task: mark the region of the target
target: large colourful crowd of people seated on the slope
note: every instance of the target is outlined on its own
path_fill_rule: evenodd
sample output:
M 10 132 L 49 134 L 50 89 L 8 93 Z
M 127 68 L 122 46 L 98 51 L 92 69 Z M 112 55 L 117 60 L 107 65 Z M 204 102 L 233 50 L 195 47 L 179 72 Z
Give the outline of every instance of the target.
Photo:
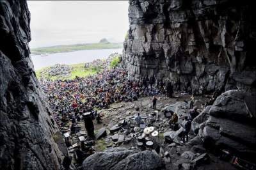
M 125 70 L 113 68 L 73 80 L 44 79 L 40 84 L 54 112 L 54 120 L 62 127 L 68 120 L 72 123 L 80 121 L 81 115 L 86 112 L 91 112 L 92 118 L 100 121 L 100 114 L 95 108 L 108 108 L 113 102 L 130 102 L 138 100 L 138 97 L 164 93 L 163 84 L 159 82 L 155 87 L 154 81 L 147 77 L 141 82 L 129 81 Z

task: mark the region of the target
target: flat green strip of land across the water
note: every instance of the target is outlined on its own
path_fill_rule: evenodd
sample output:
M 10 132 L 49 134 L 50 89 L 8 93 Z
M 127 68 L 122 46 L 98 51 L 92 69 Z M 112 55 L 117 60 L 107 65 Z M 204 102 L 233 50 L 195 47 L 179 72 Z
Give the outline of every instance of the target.
M 57 45 L 52 47 L 42 47 L 31 49 L 31 54 L 52 54 L 57 52 L 70 52 L 75 50 L 92 50 L 92 49 L 120 49 L 122 43 L 84 43 L 75 45 Z

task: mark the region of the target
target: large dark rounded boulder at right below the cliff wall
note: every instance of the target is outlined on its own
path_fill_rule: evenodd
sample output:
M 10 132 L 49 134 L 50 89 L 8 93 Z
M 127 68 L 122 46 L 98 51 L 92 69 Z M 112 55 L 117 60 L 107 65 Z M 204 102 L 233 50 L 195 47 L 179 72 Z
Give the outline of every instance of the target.
M 205 146 L 228 148 L 237 155 L 255 158 L 255 109 L 246 98 L 256 101 L 255 95 L 237 90 L 226 91 L 216 99 L 202 127 Z

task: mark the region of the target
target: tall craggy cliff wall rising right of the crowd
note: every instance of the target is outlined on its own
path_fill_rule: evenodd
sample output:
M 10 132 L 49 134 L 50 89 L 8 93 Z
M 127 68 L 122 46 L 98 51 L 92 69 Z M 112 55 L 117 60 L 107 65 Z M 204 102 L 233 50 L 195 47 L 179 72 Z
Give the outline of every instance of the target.
M 236 0 L 129 0 L 122 63 L 129 79 L 208 93 L 255 91 L 253 6 Z

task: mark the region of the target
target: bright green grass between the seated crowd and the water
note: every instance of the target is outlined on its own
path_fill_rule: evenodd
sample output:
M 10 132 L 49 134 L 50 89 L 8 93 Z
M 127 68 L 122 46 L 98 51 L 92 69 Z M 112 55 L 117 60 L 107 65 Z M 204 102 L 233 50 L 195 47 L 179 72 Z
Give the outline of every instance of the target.
M 70 76 L 68 77 L 60 77 L 60 76 L 50 76 L 47 73 L 43 73 L 45 70 L 49 68 L 45 67 L 40 70 L 36 70 L 36 77 L 40 79 L 41 77 L 47 78 L 47 79 L 75 79 L 76 77 L 88 77 L 90 75 L 95 75 L 96 73 L 99 73 L 102 71 L 101 66 L 91 66 L 90 68 L 84 68 L 84 63 L 76 64 L 76 65 L 70 65 L 72 67 L 72 71 L 70 73 Z

